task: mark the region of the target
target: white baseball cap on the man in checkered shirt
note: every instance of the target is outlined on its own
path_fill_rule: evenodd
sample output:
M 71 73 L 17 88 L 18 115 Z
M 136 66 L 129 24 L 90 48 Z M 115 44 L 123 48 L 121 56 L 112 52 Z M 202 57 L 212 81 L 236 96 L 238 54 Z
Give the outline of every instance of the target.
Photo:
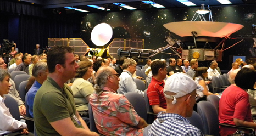
M 193 92 L 193 90 L 199 89 L 203 90 L 204 88 L 194 82 L 194 80 L 186 75 L 185 73 L 175 73 L 168 77 L 164 86 L 164 96 L 169 99 L 174 99 L 172 104 L 176 103 L 176 98 L 180 98 Z M 168 95 L 165 92 L 172 92 L 175 95 Z

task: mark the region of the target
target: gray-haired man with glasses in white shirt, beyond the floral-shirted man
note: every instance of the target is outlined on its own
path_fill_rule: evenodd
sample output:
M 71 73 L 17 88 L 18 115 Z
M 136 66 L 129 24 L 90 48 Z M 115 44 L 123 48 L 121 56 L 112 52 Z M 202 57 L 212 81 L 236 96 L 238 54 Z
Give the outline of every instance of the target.
M 119 94 L 125 94 L 128 92 L 137 92 L 144 97 L 144 92 L 142 90 L 138 90 L 134 79 L 132 78 L 133 73 L 136 71 L 136 61 L 133 59 L 124 60 L 123 72 L 120 75 L 119 81 Z

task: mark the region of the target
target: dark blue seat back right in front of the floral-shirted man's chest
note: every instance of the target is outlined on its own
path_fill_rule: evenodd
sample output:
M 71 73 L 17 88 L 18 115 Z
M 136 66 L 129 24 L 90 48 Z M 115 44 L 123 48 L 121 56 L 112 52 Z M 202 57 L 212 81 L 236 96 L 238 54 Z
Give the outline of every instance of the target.
M 142 95 L 136 92 L 129 92 L 124 95 L 134 107 L 134 110 L 137 112 L 138 116 L 142 117 L 144 120 L 147 121 L 146 102 Z

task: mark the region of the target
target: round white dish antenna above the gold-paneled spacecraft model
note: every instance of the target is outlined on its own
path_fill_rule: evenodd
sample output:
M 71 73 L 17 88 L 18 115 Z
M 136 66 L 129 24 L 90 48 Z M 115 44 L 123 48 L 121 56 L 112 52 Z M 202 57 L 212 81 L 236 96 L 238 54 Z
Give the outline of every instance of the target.
M 112 38 L 112 27 L 107 23 L 101 23 L 96 25 L 91 33 L 91 39 L 96 46 L 104 46 Z

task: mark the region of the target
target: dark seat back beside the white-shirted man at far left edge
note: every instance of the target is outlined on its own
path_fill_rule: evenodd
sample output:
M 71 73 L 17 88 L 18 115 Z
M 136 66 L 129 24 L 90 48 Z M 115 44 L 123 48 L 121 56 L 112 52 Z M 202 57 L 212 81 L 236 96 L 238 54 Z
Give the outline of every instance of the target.
M 6 107 L 9 108 L 10 114 L 12 114 L 13 118 L 20 121 L 20 111 L 19 105 L 16 102 L 15 98 L 11 97 L 10 95 L 4 95 L 6 98 L 4 100 L 4 104 Z

